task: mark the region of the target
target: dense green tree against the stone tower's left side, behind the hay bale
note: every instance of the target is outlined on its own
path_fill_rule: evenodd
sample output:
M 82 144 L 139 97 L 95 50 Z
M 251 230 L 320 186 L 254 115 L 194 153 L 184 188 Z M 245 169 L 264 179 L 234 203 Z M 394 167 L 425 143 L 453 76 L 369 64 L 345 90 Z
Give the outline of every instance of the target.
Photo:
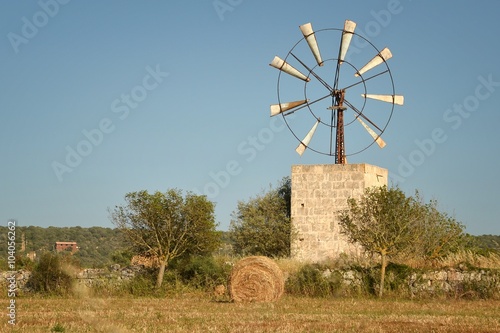
M 271 188 L 248 202 L 238 202 L 229 228 L 235 253 L 290 255 L 290 193 L 289 178 L 284 178 L 278 188 Z

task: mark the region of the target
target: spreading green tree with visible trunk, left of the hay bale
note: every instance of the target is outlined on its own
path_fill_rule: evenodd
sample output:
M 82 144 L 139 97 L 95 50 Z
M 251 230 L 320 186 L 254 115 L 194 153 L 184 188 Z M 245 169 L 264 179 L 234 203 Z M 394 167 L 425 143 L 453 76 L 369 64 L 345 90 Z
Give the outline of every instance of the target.
M 171 189 L 125 195 L 126 204 L 111 211 L 112 222 L 124 232 L 135 250 L 159 259 L 156 288 L 172 259 L 186 254 L 211 253 L 220 243 L 215 230 L 214 204 L 205 196 Z

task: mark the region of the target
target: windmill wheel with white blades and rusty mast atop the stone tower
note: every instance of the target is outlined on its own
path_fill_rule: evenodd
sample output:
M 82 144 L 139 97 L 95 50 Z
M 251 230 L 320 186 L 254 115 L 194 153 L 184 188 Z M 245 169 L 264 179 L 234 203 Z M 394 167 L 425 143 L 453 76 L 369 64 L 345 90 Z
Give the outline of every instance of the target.
M 347 156 L 358 154 L 374 143 L 385 147 L 381 135 L 394 106 L 404 102 L 403 96 L 395 93 L 387 65 L 391 51 L 379 50 L 355 33 L 356 23 L 350 20 L 345 21 L 343 29 L 314 31 L 311 23 L 299 28 L 303 38 L 284 59 L 275 56 L 270 63 L 279 70 L 278 103 L 271 105 L 271 117 L 283 116 L 299 141 L 296 152 L 302 156 L 310 149 L 334 156 L 336 164 L 346 164 Z M 349 53 L 352 42 L 355 46 Z M 358 67 L 358 63 L 364 65 Z M 298 97 L 301 94 L 303 97 Z M 361 126 L 350 126 L 356 121 Z M 360 133 L 359 128 L 369 136 Z M 349 142 L 349 149 L 345 146 L 346 132 L 356 138 Z M 313 143 L 315 136 L 319 138 Z

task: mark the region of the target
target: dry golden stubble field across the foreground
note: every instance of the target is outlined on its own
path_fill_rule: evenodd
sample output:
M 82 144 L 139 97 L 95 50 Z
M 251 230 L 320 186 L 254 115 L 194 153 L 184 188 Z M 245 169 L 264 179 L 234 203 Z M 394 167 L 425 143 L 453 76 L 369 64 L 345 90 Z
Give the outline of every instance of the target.
M 165 299 L 18 298 L 16 305 L 16 325 L 2 316 L 1 332 L 500 332 L 498 300 L 285 296 L 276 303 L 242 304 L 193 294 Z

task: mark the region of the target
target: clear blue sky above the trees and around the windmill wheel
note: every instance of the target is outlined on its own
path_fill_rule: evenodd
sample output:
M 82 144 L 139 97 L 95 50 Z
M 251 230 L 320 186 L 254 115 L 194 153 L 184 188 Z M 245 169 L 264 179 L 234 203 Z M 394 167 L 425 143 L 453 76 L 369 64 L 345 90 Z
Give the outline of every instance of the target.
M 349 163 L 387 168 L 469 233 L 500 234 L 499 12 L 494 1 L 1 1 L 0 220 L 112 227 L 108 207 L 127 192 L 179 188 L 207 194 L 227 229 L 239 200 L 292 165 L 333 163 L 299 157 L 269 117 L 268 64 L 300 25 L 350 19 L 391 49 L 405 105 L 387 146 Z

